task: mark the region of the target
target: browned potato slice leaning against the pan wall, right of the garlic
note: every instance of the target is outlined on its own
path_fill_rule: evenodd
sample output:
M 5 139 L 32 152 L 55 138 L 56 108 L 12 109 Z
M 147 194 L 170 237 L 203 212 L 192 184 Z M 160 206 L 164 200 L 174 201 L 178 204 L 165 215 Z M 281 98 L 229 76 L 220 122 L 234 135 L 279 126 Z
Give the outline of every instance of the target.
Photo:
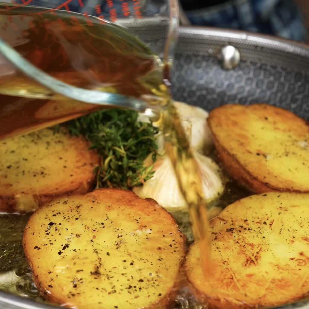
M 309 192 L 309 125 L 282 108 L 224 105 L 208 124 L 226 171 L 257 192 Z

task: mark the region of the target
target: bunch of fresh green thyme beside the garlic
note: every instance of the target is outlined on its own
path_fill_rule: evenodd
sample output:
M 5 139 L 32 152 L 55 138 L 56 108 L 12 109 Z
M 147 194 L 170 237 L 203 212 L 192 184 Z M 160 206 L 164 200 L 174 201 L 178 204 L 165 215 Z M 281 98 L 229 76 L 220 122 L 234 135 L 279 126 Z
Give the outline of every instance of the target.
M 155 162 L 158 129 L 137 121 L 138 113 L 126 109 L 102 109 L 70 121 L 72 135 L 84 135 L 100 157 L 95 168 L 96 188 L 132 189 L 152 178 L 153 165 L 143 167 L 152 153 Z

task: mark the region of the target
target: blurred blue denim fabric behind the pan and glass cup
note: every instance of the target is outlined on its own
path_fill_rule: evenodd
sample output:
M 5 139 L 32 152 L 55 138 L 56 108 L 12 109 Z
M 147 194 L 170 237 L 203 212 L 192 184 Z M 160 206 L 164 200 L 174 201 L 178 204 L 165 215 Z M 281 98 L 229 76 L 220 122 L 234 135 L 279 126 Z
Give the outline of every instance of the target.
M 57 7 L 64 1 L 32 0 L 31 4 Z M 156 1 L 159 4 L 160 0 Z M 22 3 L 21 0 L 15 2 Z M 83 4 L 80 7 L 78 0 L 72 0 L 68 6 L 71 11 L 99 15 L 95 12 L 95 6 L 100 5 L 102 14 L 108 16 L 109 8 L 105 1 L 83 0 Z M 121 16 L 121 1 L 113 0 L 113 4 Z M 155 11 L 157 7 L 147 9 Z M 293 0 L 230 0 L 205 9 L 189 10 L 186 14 L 193 25 L 241 29 L 299 41 L 306 39 L 302 14 Z

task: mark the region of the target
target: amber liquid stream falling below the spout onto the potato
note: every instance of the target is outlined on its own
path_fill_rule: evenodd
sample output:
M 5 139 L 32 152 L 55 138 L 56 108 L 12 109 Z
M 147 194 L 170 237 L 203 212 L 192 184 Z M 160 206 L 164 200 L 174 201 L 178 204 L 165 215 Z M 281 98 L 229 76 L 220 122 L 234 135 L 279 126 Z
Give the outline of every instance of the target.
M 187 202 L 191 217 L 194 239 L 199 242 L 201 263 L 205 275 L 211 272 L 211 241 L 207 216 L 207 205 L 203 199 L 201 175 L 185 136 L 175 106 L 169 99 L 163 107 L 162 131 L 165 150 L 171 159 L 180 191 Z

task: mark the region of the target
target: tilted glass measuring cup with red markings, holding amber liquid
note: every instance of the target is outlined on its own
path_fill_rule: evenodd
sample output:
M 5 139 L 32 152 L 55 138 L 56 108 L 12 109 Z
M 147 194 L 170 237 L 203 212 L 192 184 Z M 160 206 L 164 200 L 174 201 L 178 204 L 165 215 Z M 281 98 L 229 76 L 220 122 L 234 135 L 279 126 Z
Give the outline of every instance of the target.
M 74 6 L 82 14 L 69 12 Z M 88 15 L 91 7 L 96 16 Z M 0 138 L 101 105 L 145 110 L 143 96 L 163 91 L 162 68 L 172 59 L 177 16 L 176 0 L 2 3 Z M 70 70 L 64 72 L 61 62 L 70 62 Z

